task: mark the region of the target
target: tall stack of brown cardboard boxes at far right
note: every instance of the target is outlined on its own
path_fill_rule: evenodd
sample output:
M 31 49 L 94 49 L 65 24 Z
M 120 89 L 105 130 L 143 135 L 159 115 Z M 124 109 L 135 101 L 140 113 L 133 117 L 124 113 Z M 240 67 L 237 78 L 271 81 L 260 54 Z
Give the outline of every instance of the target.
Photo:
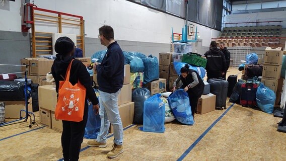
M 277 104 L 281 98 L 283 78 L 280 77 L 283 51 L 281 47 L 266 47 L 261 82 L 276 94 Z

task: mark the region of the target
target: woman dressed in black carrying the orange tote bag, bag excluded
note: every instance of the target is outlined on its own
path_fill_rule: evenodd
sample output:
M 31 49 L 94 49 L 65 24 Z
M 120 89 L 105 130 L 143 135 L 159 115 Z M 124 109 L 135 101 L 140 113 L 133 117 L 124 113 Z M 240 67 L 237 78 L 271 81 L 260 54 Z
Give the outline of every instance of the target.
M 58 93 L 59 82 L 64 80 L 68 64 L 74 59 L 72 67 L 70 68 L 69 82 L 75 85 L 79 81 L 86 88 L 86 100 L 89 99 L 92 102 L 95 113 L 98 113 L 98 99 L 91 86 L 89 72 L 80 60 L 72 56 L 75 51 L 74 46 L 74 42 L 68 37 L 60 37 L 55 42 L 54 49 L 57 54 L 51 67 L 56 85 L 55 90 Z M 85 101 L 82 121 L 73 122 L 62 120 L 61 146 L 64 160 L 79 160 L 87 119 L 88 103 Z

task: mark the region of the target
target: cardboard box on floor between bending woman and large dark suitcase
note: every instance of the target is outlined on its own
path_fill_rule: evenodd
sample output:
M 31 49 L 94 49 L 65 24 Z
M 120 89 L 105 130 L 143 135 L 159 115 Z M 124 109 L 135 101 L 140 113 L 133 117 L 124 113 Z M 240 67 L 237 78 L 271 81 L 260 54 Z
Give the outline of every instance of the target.
M 209 93 L 207 95 L 201 95 L 197 102 L 197 113 L 205 114 L 210 111 L 216 110 L 216 95 Z

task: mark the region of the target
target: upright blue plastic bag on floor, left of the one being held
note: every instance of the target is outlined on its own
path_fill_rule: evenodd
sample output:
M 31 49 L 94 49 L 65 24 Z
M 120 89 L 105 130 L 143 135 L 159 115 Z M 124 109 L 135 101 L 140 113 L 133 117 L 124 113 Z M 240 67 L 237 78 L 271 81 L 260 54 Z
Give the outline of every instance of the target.
M 161 94 L 154 95 L 144 102 L 143 131 L 165 131 L 165 104 Z

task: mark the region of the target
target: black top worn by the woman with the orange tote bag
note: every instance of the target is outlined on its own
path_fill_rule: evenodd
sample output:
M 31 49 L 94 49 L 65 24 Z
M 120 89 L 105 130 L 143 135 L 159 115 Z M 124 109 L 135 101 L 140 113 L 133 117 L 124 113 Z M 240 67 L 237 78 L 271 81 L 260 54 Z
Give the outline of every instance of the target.
M 51 70 L 55 80 L 55 90 L 57 93 L 59 88 L 59 81 L 64 80 L 68 64 L 70 61 L 72 61 L 72 59 L 75 58 L 72 56 L 63 57 L 60 54 L 56 55 Z M 72 85 L 75 85 L 78 83 L 78 81 L 80 81 L 87 90 L 86 99 L 89 99 L 93 105 L 97 105 L 98 99 L 94 93 L 94 89 L 91 86 L 89 72 L 87 71 L 86 66 L 80 60 L 75 59 L 72 63 L 72 67 L 70 67 L 69 82 L 72 83 Z

